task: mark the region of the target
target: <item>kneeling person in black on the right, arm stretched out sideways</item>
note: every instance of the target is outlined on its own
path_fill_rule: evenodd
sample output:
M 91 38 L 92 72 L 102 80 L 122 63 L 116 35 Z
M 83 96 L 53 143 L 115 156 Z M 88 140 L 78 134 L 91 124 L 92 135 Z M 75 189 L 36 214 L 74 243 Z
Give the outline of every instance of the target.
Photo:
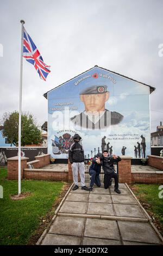
M 121 194 L 121 191 L 118 190 L 118 174 L 114 169 L 114 162 L 121 161 L 120 156 L 108 156 L 108 151 L 103 151 L 103 170 L 104 170 L 104 188 L 108 188 L 111 185 L 111 178 L 115 179 L 115 189 L 114 191 L 118 194 Z

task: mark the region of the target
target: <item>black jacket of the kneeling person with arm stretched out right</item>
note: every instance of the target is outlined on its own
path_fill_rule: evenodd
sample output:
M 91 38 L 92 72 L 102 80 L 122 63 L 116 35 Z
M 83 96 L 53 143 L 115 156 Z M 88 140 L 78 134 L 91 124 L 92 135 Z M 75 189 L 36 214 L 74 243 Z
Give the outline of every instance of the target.
M 104 174 L 110 174 L 115 172 L 114 162 L 120 162 L 121 157 L 118 156 L 117 159 L 114 159 L 112 156 L 103 157 L 103 170 Z

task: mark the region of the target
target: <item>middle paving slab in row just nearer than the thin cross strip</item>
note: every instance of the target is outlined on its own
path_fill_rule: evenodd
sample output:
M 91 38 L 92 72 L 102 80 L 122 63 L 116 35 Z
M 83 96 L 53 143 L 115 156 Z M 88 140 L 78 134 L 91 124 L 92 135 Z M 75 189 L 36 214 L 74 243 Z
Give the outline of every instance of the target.
M 99 237 L 104 239 L 120 240 L 116 221 L 87 218 L 84 237 Z

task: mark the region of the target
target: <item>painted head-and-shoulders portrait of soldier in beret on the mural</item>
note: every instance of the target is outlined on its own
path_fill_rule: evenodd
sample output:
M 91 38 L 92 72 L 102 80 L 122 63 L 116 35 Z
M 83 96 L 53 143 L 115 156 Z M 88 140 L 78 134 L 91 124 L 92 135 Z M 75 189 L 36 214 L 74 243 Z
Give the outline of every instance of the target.
M 74 126 L 99 130 L 122 121 L 123 115 L 105 109 L 105 102 L 109 99 L 107 88 L 107 86 L 92 86 L 80 93 L 80 100 L 84 102 L 85 111 L 70 119 Z

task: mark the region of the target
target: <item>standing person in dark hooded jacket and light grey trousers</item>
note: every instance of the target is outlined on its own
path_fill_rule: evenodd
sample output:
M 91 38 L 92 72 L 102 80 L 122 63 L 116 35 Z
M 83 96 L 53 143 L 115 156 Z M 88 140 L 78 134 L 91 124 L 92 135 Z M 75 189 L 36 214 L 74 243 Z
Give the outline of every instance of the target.
M 80 174 L 80 182 L 82 185 L 82 190 L 90 190 L 85 186 L 85 168 L 84 168 L 84 150 L 82 145 L 79 144 L 82 138 L 76 133 L 73 136 L 74 143 L 71 144 L 70 149 L 68 150 L 68 158 L 72 167 L 72 175 L 74 187 L 72 190 L 77 190 L 78 186 L 78 172 Z

